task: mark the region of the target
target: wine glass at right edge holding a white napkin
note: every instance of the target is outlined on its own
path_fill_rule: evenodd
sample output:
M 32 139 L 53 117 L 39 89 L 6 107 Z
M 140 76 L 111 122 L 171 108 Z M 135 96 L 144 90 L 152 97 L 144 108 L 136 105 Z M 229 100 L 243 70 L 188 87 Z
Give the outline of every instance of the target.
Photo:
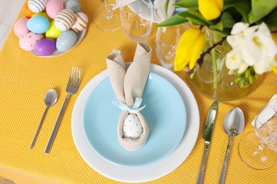
M 277 96 L 259 111 L 254 127 L 239 142 L 239 157 L 246 166 L 265 170 L 277 161 Z

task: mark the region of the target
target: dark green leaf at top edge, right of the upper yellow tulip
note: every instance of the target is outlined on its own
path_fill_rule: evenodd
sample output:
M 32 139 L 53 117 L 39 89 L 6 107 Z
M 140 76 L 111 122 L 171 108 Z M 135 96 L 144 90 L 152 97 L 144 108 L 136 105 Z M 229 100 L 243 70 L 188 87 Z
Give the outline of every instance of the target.
M 249 1 L 224 1 L 224 7 L 222 11 L 228 11 L 228 8 L 235 8 L 237 12 L 241 14 L 244 22 L 248 23 L 248 14 L 251 11 L 251 4 Z

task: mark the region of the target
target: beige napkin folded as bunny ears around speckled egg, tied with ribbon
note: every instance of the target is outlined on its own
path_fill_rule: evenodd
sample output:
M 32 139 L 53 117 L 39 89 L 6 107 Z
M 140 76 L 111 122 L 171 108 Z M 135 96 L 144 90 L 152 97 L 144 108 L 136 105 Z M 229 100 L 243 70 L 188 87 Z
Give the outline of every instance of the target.
M 118 102 L 113 102 L 113 104 L 122 110 L 117 124 L 117 138 L 121 146 L 128 151 L 141 149 L 146 144 L 148 137 L 147 122 L 143 115 L 139 113 L 144 106 L 142 108 L 139 108 L 139 106 L 141 105 L 143 89 L 148 79 L 151 54 L 151 47 L 147 43 L 139 43 L 136 47 L 134 62 L 128 69 L 125 67 L 124 59 L 119 50 L 112 50 L 106 58 L 109 79 L 118 100 Z M 132 131 L 131 128 L 134 130 L 141 127 L 136 130 L 140 134 L 136 138 L 126 136 L 126 134 L 130 134 L 129 130 L 125 130 L 125 128 L 129 126 L 128 123 L 131 121 L 129 120 L 131 117 L 135 118 L 136 127 L 130 127 L 130 131 Z

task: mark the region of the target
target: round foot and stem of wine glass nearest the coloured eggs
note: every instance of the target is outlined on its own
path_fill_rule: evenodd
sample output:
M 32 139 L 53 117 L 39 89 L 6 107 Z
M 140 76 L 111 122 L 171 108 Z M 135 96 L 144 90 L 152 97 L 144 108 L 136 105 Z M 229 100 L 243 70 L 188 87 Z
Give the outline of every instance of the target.
M 119 30 L 119 8 L 113 10 L 114 4 L 109 4 L 108 0 L 104 0 L 104 4 L 104 6 L 101 6 L 94 12 L 94 24 L 97 28 L 104 31 Z

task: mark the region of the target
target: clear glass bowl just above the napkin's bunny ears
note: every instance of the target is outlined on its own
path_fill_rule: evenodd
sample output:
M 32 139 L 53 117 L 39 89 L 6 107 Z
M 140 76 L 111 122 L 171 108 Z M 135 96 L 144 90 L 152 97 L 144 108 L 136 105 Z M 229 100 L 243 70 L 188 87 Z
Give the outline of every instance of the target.
M 145 42 L 151 33 L 153 7 L 151 0 L 121 1 L 121 26 L 130 40 Z

